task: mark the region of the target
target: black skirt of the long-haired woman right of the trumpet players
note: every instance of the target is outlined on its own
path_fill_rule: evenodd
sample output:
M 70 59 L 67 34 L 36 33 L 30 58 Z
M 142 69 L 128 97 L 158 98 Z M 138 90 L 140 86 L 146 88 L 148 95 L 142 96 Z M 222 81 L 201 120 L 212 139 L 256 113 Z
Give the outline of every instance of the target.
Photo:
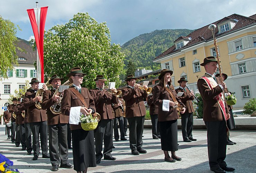
M 163 151 L 178 150 L 177 119 L 159 122 L 161 134 L 161 147 Z

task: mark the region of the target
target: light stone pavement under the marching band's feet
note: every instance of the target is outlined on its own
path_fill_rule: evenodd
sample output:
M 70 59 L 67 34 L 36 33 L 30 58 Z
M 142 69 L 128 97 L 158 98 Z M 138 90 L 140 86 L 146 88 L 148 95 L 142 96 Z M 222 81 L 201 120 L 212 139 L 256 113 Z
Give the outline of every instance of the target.
M 23 173 L 46 173 L 52 172 L 49 159 L 39 155 L 37 161 L 33 161 L 32 155 L 27 155 L 26 150 L 21 151 L 21 145 L 15 147 L 7 140 L 5 126 L 0 125 L 0 153 L 13 161 L 12 169 L 18 169 Z M 88 172 L 118 172 L 118 173 L 210 173 L 207 154 L 207 132 L 205 129 L 195 129 L 193 137 L 195 142 L 185 143 L 182 140 L 181 130 L 178 130 L 179 151 L 176 155 L 182 157 L 182 161 L 168 163 L 164 161 L 164 153 L 161 150 L 161 141 L 153 140 L 151 129 L 144 129 L 143 149 L 146 154 L 138 156 L 131 155 L 129 148 L 129 135 L 127 141 L 116 142 L 113 139 L 112 156 L 116 161 L 101 160 L 97 167 L 88 168 Z M 256 131 L 235 130 L 230 132 L 230 140 L 237 142 L 236 145 L 227 146 L 226 162 L 228 166 L 235 167 L 234 172 L 252 173 L 256 172 Z M 41 152 L 42 153 L 42 152 Z M 72 150 L 68 151 L 69 162 L 73 165 Z M 75 173 L 73 169 L 62 169 L 56 173 Z

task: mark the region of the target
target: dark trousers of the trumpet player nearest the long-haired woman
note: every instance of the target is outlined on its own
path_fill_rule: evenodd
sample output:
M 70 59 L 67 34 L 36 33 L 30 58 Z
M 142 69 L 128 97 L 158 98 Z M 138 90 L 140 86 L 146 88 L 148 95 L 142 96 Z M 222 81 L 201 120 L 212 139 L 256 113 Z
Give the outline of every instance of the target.
M 142 134 L 145 116 L 127 118 L 129 123 L 129 142 L 132 151 L 142 149 Z

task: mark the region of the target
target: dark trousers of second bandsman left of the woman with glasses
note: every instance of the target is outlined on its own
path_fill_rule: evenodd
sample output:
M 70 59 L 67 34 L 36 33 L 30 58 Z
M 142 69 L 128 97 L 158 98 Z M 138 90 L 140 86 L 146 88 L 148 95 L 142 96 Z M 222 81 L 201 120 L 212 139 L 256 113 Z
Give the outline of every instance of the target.
M 39 134 L 42 148 L 42 155 L 46 156 L 48 153 L 48 126 L 47 121 L 29 123 L 31 127 L 31 131 L 33 134 L 33 144 L 32 148 L 34 151 L 34 156 L 39 155 L 40 147 L 39 147 Z

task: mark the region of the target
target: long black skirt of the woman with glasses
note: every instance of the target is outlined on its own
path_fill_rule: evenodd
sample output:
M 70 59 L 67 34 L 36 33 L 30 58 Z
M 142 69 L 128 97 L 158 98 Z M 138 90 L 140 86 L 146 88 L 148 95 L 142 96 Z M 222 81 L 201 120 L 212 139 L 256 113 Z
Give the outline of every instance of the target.
M 96 167 L 94 133 L 83 129 L 72 130 L 73 162 L 75 171 Z

